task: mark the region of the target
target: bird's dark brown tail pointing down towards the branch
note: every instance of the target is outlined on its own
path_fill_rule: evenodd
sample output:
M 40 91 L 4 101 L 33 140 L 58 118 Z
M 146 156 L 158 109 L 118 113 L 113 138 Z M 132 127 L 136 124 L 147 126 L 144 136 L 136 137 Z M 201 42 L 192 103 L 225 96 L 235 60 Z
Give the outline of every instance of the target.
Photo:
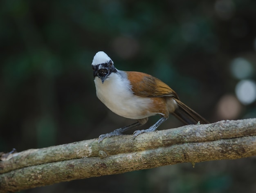
M 197 124 L 200 121 L 201 124 L 209 123 L 200 114 L 189 108 L 187 105 L 182 103 L 180 100 L 175 99 L 178 108 L 172 113 L 177 119 L 185 124 Z

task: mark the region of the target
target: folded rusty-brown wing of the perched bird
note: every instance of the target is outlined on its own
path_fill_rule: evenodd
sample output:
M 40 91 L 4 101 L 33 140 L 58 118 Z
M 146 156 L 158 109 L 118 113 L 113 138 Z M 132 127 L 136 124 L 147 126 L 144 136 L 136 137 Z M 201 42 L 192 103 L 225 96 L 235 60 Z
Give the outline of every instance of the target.
M 179 99 L 177 94 L 159 79 L 143 72 L 126 72 L 135 95 L 144 97 L 173 96 Z

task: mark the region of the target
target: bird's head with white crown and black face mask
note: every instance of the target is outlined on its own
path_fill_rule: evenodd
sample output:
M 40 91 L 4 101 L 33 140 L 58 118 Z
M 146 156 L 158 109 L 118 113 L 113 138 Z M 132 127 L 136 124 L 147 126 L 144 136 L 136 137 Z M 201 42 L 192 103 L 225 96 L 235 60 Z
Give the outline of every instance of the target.
M 95 54 L 92 60 L 93 76 L 99 77 L 102 83 L 108 78 L 112 72 L 117 72 L 111 58 L 103 51 Z

